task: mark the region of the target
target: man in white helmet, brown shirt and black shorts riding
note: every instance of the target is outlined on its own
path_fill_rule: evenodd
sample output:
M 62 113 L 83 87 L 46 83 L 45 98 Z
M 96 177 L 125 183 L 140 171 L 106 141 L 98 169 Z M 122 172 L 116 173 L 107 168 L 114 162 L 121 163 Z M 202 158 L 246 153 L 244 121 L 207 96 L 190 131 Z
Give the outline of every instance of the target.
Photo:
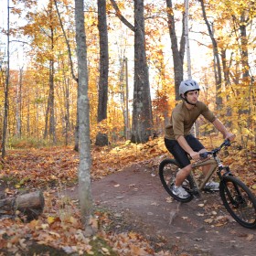
M 192 169 L 188 155 L 197 161 L 199 154 L 206 152 L 204 145 L 190 133 L 199 115 L 202 114 L 208 122 L 212 123 L 223 134 L 225 139 L 233 140 L 235 137 L 235 134 L 227 131 L 226 127 L 208 109 L 204 102 L 197 101 L 199 91 L 200 88 L 196 80 L 184 80 L 180 83 L 179 95 L 183 101 L 176 105 L 172 112 L 170 123 L 165 127 L 165 146 L 181 166 L 181 169 L 176 174 L 176 182 L 172 190 L 176 196 L 182 198 L 189 196 L 181 186 Z M 202 167 L 204 175 L 208 174 L 209 168 L 210 165 Z M 219 189 L 219 184 L 213 181 L 206 186 L 213 190 Z

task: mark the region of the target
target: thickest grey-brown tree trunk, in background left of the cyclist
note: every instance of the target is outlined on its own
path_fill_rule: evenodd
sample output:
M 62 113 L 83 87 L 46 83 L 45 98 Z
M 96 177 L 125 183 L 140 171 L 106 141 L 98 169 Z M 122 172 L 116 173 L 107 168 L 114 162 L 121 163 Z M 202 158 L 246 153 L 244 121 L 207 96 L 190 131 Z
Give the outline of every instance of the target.
M 131 142 L 145 143 L 153 134 L 153 117 L 145 55 L 144 0 L 134 0 L 134 27 L 134 90 Z

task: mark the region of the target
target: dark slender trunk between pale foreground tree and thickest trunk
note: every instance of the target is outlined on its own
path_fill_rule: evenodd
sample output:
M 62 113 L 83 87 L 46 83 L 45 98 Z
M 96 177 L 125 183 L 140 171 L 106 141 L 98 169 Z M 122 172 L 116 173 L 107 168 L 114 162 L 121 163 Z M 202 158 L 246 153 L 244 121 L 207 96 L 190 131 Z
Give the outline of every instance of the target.
M 98 29 L 100 36 L 100 80 L 97 122 L 101 123 L 101 121 L 107 118 L 108 107 L 109 48 L 106 0 L 98 0 Z M 104 131 L 99 131 L 96 136 L 95 144 L 109 144 L 108 136 Z

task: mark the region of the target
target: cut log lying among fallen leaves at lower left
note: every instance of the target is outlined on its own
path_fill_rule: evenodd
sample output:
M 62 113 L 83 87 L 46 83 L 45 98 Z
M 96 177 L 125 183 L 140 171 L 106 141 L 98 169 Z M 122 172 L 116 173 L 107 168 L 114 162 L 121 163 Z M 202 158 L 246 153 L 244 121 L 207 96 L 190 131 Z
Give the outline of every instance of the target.
M 11 215 L 24 215 L 28 220 L 37 219 L 45 206 L 45 199 L 41 191 L 35 191 L 16 197 L 6 197 L 0 200 L 1 212 Z

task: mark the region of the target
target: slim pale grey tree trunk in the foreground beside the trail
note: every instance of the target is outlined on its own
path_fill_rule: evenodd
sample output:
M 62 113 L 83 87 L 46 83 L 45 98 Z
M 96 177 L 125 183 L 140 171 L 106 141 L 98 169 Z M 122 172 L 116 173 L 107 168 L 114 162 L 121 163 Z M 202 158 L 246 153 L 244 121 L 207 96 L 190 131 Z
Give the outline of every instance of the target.
M 83 0 L 75 0 L 76 42 L 79 74 L 79 198 L 81 219 L 85 231 L 91 235 L 90 219 L 92 213 L 91 197 L 91 139 L 90 139 L 90 110 L 88 97 L 87 48 L 84 27 Z

